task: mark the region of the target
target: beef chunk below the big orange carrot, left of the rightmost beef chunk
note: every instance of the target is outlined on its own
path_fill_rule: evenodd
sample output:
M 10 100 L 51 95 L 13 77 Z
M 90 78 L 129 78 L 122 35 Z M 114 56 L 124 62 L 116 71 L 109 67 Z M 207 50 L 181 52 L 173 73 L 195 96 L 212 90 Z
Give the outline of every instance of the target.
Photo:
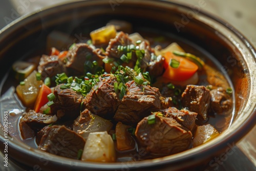
M 183 107 L 196 112 L 201 119 L 207 119 L 210 107 L 210 91 L 204 86 L 188 85 L 182 93 Z

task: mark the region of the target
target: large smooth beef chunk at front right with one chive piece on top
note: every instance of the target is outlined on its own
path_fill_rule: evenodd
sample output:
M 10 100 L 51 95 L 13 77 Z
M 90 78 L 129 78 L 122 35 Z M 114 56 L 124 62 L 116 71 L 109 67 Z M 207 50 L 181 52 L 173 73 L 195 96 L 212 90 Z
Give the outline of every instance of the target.
M 155 123 L 148 117 L 137 125 L 135 135 L 140 145 L 153 155 L 166 156 L 183 152 L 189 148 L 192 134 L 173 118 L 155 115 Z

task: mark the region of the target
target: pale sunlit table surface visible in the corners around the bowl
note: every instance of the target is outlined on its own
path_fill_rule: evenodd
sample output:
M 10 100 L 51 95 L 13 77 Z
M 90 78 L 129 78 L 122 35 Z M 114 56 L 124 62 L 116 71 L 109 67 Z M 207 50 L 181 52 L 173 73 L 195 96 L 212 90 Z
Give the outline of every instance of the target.
M 31 1 L 29 5 L 27 4 L 24 11 L 20 11 L 19 15 L 24 15 L 33 10 L 37 10 L 47 5 L 54 5 L 55 3 L 63 2 L 64 0 L 37 0 Z M 67 0 L 65 0 L 67 1 Z M 237 28 L 242 34 L 247 37 L 247 39 L 256 47 L 256 1 L 254 0 L 176 0 L 175 2 L 187 4 L 189 6 L 195 6 L 204 1 L 206 6 L 201 9 L 212 15 L 215 15 L 221 19 L 228 21 L 229 24 Z M 13 10 L 17 9 L 19 6 L 24 6 L 23 1 L 18 0 L 1 0 L 0 1 L 0 29 L 8 24 L 5 20 L 6 17 L 11 18 L 11 13 Z M 221 156 L 212 158 L 215 160 L 215 164 L 209 164 L 200 166 L 199 168 L 191 170 L 256 170 L 256 126 L 244 137 L 242 138 L 236 146 L 233 147 L 234 153 L 229 155 L 224 160 L 219 160 Z M 1 163 L 3 163 L 3 158 L 0 157 Z M 1 170 L 14 170 L 14 168 L 9 165 L 8 168 L 0 165 Z M 29 168 L 26 168 L 29 169 Z

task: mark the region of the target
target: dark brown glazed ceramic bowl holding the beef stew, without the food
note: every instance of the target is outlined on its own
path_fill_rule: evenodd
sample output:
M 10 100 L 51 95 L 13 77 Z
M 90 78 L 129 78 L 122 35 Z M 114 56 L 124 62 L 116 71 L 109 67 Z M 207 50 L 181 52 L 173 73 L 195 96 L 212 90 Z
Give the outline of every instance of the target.
M 164 33 L 220 63 L 219 72 L 228 74 L 233 86 L 235 105 L 232 123 L 227 125 L 228 129 L 219 137 L 201 146 L 163 158 L 138 162 L 93 163 L 48 154 L 20 143 L 9 135 L 9 159 L 34 169 L 46 170 L 175 170 L 195 166 L 223 150 L 227 151 L 255 124 L 256 53 L 250 42 L 236 29 L 202 12 L 203 6 L 204 4 L 198 4 L 191 9 L 169 1 L 93 0 L 70 2 L 38 11 L 15 20 L 0 31 L 0 70 L 5 74 L 15 60 L 46 53 L 46 37 L 54 30 L 65 32 L 79 41 L 79 38 L 83 38 L 84 31 L 104 26 L 110 19 L 127 20 L 133 24 L 135 31 Z M 5 83 L 6 77 L 1 75 L 1 96 L 7 87 L 10 87 Z M 2 106 L 1 124 L 4 111 Z M 0 146 L 3 150 L 6 137 L 2 130 L 0 136 Z

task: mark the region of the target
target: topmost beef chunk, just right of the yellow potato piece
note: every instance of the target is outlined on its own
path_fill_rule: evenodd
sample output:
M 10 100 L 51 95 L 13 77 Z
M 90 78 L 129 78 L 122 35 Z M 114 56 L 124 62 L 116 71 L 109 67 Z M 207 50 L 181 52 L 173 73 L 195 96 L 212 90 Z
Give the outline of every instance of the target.
M 115 38 L 111 39 L 106 48 L 106 55 L 109 57 L 120 58 L 124 51 L 119 51 L 118 46 L 133 45 L 133 41 L 124 32 L 119 32 Z M 126 55 L 126 54 L 125 54 Z M 136 59 L 133 59 L 136 61 Z

